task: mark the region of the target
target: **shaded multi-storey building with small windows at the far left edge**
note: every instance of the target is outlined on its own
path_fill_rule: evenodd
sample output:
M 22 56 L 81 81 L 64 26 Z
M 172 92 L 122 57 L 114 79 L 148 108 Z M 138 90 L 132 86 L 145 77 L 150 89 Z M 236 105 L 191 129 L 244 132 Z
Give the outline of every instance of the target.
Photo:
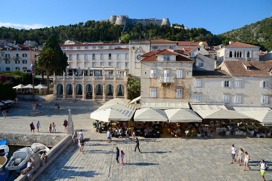
M 30 72 L 31 62 L 37 61 L 37 48 L 22 45 L 0 47 L 0 71 L 22 70 Z

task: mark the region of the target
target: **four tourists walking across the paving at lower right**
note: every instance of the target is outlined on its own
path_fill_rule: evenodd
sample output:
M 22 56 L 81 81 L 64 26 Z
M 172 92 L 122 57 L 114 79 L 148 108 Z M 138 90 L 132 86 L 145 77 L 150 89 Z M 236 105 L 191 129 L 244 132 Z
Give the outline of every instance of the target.
M 249 158 L 249 154 L 247 151 L 244 152 L 244 150 L 242 148 L 240 148 L 239 152 L 237 153 L 237 148 L 234 145 L 232 145 L 231 150 L 229 151 L 229 154 L 232 154 L 231 164 L 233 164 L 233 161 L 236 161 L 235 155 L 237 155 L 238 156 L 237 161 L 239 161 L 239 166 L 241 166 L 241 163 L 242 163 L 242 160 L 244 157 L 244 171 L 246 170 L 246 167 L 248 167 L 249 170 L 251 169 L 251 167 L 248 166 L 248 162 L 250 161 L 250 158 Z M 262 176 L 263 181 L 265 181 L 264 173 L 269 167 L 264 162 L 264 160 L 261 160 L 260 164 L 258 164 L 258 165 L 261 167 L 261 170 L 260 170 L 261 176 Z

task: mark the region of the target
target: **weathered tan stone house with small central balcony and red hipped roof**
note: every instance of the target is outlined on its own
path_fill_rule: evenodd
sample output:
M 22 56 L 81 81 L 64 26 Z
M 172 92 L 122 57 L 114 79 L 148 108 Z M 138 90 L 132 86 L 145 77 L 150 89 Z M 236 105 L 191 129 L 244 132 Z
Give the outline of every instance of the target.
M 142 55 L 141 101 L 189 102 L 193 61 L 164 49 Z

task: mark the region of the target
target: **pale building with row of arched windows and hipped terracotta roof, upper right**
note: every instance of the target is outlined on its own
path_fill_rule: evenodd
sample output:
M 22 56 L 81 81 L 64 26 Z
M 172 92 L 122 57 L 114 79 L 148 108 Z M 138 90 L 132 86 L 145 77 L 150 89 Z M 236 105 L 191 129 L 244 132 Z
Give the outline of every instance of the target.
M 241 42 L 229 42 L 229 45 L 218 49 L 217 61 L 259 61 L 260 47 Z

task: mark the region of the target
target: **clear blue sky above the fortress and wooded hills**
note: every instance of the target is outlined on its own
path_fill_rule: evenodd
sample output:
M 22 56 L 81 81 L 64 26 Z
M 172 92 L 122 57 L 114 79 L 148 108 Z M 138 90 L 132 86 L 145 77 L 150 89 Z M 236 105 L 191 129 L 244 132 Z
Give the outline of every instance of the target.
M 203 27 L 220 34 L 270 17 L 272 12 L 272 0 L 194 0 L 193 3 L 184 0 L 17 0 L 12 5 L 10 1 L 2 1 L 1 5 L 9 7 L 9 13 L 1 16 L 0 26 L 19 29 L 68 25 L 126 14 L 137 19 L 168 17 L 170 23 Z

